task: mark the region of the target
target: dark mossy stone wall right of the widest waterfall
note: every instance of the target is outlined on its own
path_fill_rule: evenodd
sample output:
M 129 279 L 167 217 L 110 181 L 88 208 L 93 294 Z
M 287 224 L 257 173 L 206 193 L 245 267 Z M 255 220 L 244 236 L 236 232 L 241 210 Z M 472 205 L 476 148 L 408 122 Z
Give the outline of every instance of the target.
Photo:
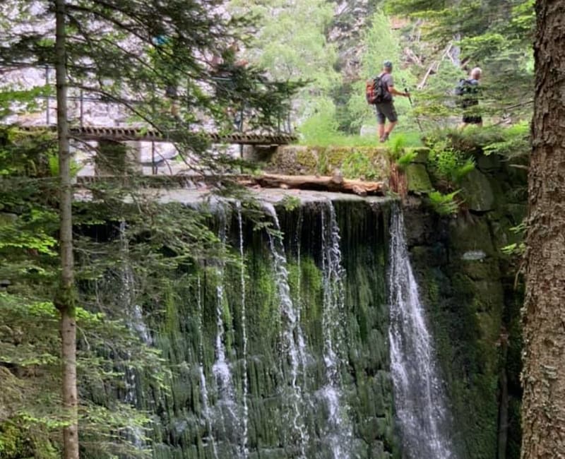
M 319 167 L 315 150 L 281 156 L 293 158 L 289 162 L 275 158 L 273 167 L 300 170 L 297 159 L 304 157 L 307 167 Z M 464 210 L 440 217 L 427 205 L 432 182 L 420 153 L 405 169 L 405 225 L 458 431 L 458 458 L 494 458 L 499 448 L 518 458 L 523 298 L 514 287 L 516 265 L 501 249 L 519 241 L 511 227 L 525 217 L 525 172 L 478 155 L 477 168 L 461 184 Z M 508 434 L 505 446 L 498 444 L 499 429 Z

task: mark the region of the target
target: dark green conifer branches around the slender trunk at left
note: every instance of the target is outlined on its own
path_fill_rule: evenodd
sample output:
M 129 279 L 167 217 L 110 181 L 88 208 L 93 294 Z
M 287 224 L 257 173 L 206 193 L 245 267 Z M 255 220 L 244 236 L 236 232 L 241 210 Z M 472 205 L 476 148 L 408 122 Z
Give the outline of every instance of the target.
M 130 120 L 143 121 L 146 126 L 167 133 L 183 157 L 190 155 L 194 167 L 222 167 L 221 157 L 206 153 L 208 142 L 202 136 L 204 126 L 232 130 L 234 111 L 246 110 L 253 114 L 249 127 L 274 129 L 281 110 L 285 109 L 285 100 L 292 93 L 290 85 L 269 81 L 260 69 L 237 65 L 232 50 L 240 39 L 235 30 L 242 30 L 244 25 L 245 21 L 228 17 L 222 2 L 215 0 L 3 2 L 0 72 L 4 75 L 25 68 L 47 67 L 55 69 L 57 78 L 55 88 L 8 88 L 5 85 L 6 97 L 0 98 L 0 114 L 6 117 L 22 108 L 29 112 L 37 108 L 37 96 L 56 95 L 57 140 L 46 136 L 22 141 L 17 138 L 18 131 L 12 129 L 2 129 L 1 133 L 0 210 L 7 220 L 0 225 L 0 232 L 6 236 L 0 245 L 0 254 L 3 259 L 11 260 L 9 266 L 13 270 L 18 263 L 21 266 L 18 271 L 8 272 L 9 288 L 7 292 L 0 292 L 0 316 L 10 320 L 7 330 L 1 332 L 0 347 L 15 350 L 14 343 L 26 342 L 29 344 L 26 349 L 31 353 L 29 358 L 17 352 L 9 359 L 1 359 L 0 379 L 10 381 L 11 394 L 17 393 L 20 399 L 14 403 L 16 397 L 12 396 L 8 403 L 7 398 L 0 397 L 0 406 L 8 407 L 0 412 L 0 431 L 10 433 L 13 439 L 7 443 L 0 441 L 2 457 L 16 458 L 23 454 L 60 457 L 59 439 L 52 435 L 57 429 L 63 431 L 61 450 L 66 459 L 78 458 L 79 451 L 88 450 L 88 445 L 91 449 L 100 448 L 105 443 L 102 440 L 124 439 L 120 434 L 124 426 L 118 419 L 127 410 L 122 409 L 120 413 L 120 408 L 114 406 L 117 410 L 110 416 L 109 407 L 88 407 L 79 400 L 78 379 L 88 381 L 90 378 L 100 385 L 115 372 L 101 363 L 104 359 L 99 354 L 92 354 L 92 337 L 86 338 L 88 329 L 98 328 L 94 333 L 96 340 L 104 335 L 109 338 L 107 332 L 114 330 L 116 334 L 106 341 L 113 342 L 114 353 L 126 352 L 141 359 L 144 355 L 143 351 L 141 354 L 132 351 L 134 340 L 127 338 L 126 328 L 119 323 L 114 323 L 115 327 L 111 322 L 102 324 L 100 316 L 88 313 L 79 302 L 81 294 L 76 287 L 73 259 L 77 249 L 76 222 L 73 221 L 77 203 L 73 202 L 71 177 L 73 139 L 69 135 L 73 120 L 69 119 L 67 110 L 68 96 L 82 92 L 100 102 L 119 105 Z M 73 145 L 78 148 L 81 144 Z M 24 155 L 23 160 L 18 154 Z M 119 208 L 123 195 L 120 197 L 117 190 L 112 193 L 112 202 Z M 110 212 L 106 210 L 105 215 Z M 87 220 L 92 224 L 92 218 Z M 190 225 L 186 222 L 184 225 L 186 231 L 190 231 Z M 202 242 L 201 234 L 195 236 L 199 242 L 189 234 L 191 244 L 186 244 L 187 251 L 202 249 L 206 242 Z M 35 289 L 33 280 L 25 282 L 26 276 L 35 278 L 35 282 L 40 278 Z M 18 304 L 25 307 L 18 309 Z M 55 309 L 49 313 L 49 305 L 55 306 L 59 313 L 61 342 L 53 334 L 57 316 L 54 316 Z M 11 311 L 19 315 L 10 314 Z M 23 330 L 22 322 L 28 319 L 30 328 Z M 34 335 L 34 324 L 41 320 L 45 327 L 42 333 Z M 92 351 L 86 352 L 86 356 L 85 352 L 77 354 L 79 326 L 82 339 L 88 342 L 86 347 Z M 25 339 L 16 336 L 18 330 L 23 330 Z M 49 340 L 41 338 L 46 334 Z M 42 340 L 41 346 L 33 344 L 37 339 Z M 55 345 L 62 349 L 60 378 L 53 369 L 53 365 L 59 363 Z M 99 342 L 97 350 L 102 347 Z M 41 354 L 35 355 L 35 351 Z M 147 362 L 152 362 L 150 365 L 157 369 L 159 362 L 150 355 L 145 354 L 149 356 Z M 91 359 L 90 364 L 85 365 L 85 359 Z M 133 357 L 129 365 L 136 359 Z M 77 373 L 78 367 L 82 376 Z M 24 387 L 25 378 L 19 379 L 26 368 L 40 372 L 37 381 L 49 382 L 42 388 L 53 398 L 42 413 L 37 411 L 33 400 L 25 400 L 32 394 Z M 48 407 L 58 398 L 52 392 L 57 385 L 62 386 L 62 410 L 49 412 Z M 82 393 L 86 387 L 85 384 Z M 89 441 L 79 442 L 82 435 L 82 430 L 78 431 L 79 417 L 81 429 L 89 424 L 94 426 L 88 433 Z M 102 420 L 104 422 L 100 423 Z M 24 429 L 38 433 L 24 435 Z M 23 440 L 24 437 L 27 440 Z

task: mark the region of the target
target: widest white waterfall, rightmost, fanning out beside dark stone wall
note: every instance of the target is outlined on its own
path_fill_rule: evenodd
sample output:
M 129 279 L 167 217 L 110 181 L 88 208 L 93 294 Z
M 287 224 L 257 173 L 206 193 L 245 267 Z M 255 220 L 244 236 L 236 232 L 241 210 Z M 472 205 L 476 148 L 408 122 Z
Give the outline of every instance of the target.
M 401 211 L 391 223 L 389 273 L 391 373 L 406 459 L 454 459 L 450 416 L 432 337 L 410 266 Z

